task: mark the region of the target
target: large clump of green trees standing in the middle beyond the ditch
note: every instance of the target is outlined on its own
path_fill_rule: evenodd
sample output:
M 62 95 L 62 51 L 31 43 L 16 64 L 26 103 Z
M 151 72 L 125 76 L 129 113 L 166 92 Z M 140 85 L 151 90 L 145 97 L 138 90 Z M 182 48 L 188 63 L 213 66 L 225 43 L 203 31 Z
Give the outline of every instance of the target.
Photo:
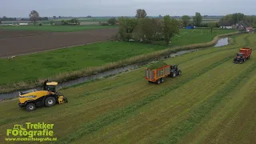
M 170 38 L 179 33 L 178 20 L 170 15 L 148 18 L 145 10 L 137 10 L 135 18 L 118 18 L 118 38 L 122 41 L 134 39 L 140 42 L 164 40 L 169 45 Z

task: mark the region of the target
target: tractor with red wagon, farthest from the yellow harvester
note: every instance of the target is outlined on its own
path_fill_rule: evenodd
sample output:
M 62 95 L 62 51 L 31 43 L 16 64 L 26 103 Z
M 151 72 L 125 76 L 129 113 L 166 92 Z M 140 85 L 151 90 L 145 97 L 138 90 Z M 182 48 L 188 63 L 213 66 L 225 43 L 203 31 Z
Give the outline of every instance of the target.
M 243 47 L 237 53 L 237 57 L 234 58 L 234 63 L 243 63 L 246 60 L 250 59 L 250 55 L 252 54 L 252 49 L 249 47 Z

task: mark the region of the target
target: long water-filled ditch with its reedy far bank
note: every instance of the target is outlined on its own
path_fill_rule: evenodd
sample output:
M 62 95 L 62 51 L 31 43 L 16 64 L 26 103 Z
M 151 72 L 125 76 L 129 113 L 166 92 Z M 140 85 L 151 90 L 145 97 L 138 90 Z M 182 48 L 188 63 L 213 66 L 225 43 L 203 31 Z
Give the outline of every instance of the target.
M 149 62 L 158 61 L 164 58 L 172 58 L 182 54 L 188 54 L 194 51 L 205 49 L 210 46 L 217 46 L 218 41 L 228 41 L 229 36 L 235 34 L 242 34 L 241 32 L 235 32 L 231 34 L 222 34 L 218 35 L 214 38 L 212 42 L 206 42 L 201 44 L 194 44 L 189 46 L 177 46 L 166 50 L 156 51 L 150 54 L 142 54 L 136 56 L 134 58 L 128 58 L 126 60 L 122 60 L 119 62 L 112 62 L 104 66 L 87 68 L 84 70 L 73 71 L 71 73 L 59 74 L 57 76 L 49 78 L 50 80 L 59 82 L 58 89 L 66 88 L 69 86 L 73 86 L 79 83 L 88 82 L 98 78 L 104 78 L 106 76 L 110 76 L 113 74 L 119 74 L 126 70 L 132 70 L 138 68 L 139 66 L 146 65 Z M 228 42 L 223 43 L 222 45 L 218 44 L 218 46 L 226 46 Z M 41 80 L 42 81 L 42 80 Z M 9 86 L 10 87 L 10 86 Z M 42 89 L 41 82 L 24 84 L 22 86 L 10 87 L 10 89 L 6 89 L 6 91 L 2 91 L 0 94 L 0 100 L 17 98 L 18 91 L 20 90 L 31 90 L 31 89 Z

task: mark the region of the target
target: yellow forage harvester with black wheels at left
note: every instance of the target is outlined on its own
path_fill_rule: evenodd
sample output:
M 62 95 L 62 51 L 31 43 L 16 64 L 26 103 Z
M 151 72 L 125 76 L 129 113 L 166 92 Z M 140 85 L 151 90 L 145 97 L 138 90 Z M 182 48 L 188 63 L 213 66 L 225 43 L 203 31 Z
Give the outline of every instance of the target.
M 54 106 L 56 103 L 67 103 L 67 98 L 56 90 L 58 82 L 46 82 L 45 90 L 28 90 L 19 92 L 18 106 L 26 107 L 27 111 L 35 110 L 37 106 Z

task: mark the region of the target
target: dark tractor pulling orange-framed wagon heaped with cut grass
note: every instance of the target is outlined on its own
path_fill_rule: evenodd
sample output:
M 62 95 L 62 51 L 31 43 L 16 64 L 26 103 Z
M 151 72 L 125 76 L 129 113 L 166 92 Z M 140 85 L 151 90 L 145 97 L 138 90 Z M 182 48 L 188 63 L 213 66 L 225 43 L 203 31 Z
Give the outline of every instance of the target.
M 148 82 L 154 82 L 156 84 L 160 84 L 164 82 L 165 77 L 176 77 L 182 74 L 182 70 L 178 69 L 177 65 L 170 66 L 161 66 L 156 69 L 145 69 L 145 78 Z

